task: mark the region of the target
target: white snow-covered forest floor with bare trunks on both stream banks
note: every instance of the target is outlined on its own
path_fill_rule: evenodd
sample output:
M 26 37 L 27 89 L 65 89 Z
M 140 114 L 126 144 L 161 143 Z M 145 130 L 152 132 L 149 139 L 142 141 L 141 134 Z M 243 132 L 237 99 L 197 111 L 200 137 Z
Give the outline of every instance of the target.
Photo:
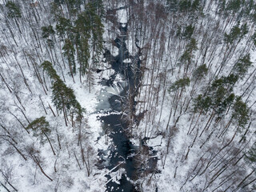
M 14 188 L 24 192 L 105 191 L 108 182 L 105 175 L 109 170 L 98 170 L 95 164 L 98 149 L 106 150 L 111 140 L 104 136 L 98 115 L 102 115 L 101 109 L 108 108 L 107 98 L 121 90 L 117 89 L 118 86 L 106 88 L 98 83 L 113 74 L 113 70 L 103 70 L 98 74 L 93 71 L 90 82 L 86 76 L 80 82 L 77 74 L 73 81 L 65 59 L 66 68 L 63 66 L 63 42 L 57 34 L 54 50 L 50 50 L 46 40 L 40 37 L 42 26 L 55 26 L 56 22 L 50 14 L 50 1 L 38 2 L 41 6 L 31 7 L 28 1 L 19 2 L 24 18 L 18 18 L 18 25 L 14 19 L 6 17 L 5 11 L 0 13 L 0 182 L 11 191 Z M 129 21 L 130 36 L 126 41 L 129 52 L 137 53 L 136 41 L 142 47 L 142 66 L 145 68 L 136 110 L 138 114 L 147 112 L 139 125 L 134 125 L 131 141 L 139 146 L 140 138 L 150 138 L 147 145 L 158 151 L 158 172 L 141 175 L 138 179 L 142 191 L 156 191 L 156 188 L 158 191 L 234 191 L 240 183 L 242 186 L 254 181 L 255 175 L 250 175 L 254 164 L 246 162 L 243 155 L 255 142 L 254 23 L 241 18 L 239 26 L 247 23 L 248 33 L 227 46 L 224 34 L 230 34 L 239 17 L 238 13 L 218 13 L 218 1 L 202 1 L 206 2 L 204 8 L 192 15 L 166 11 L 163 8 L 165 1 L 128 2 L 111 4 L 107 1 L 106 9 L 129 5 L 117 10 L 115 16 L 123 25 Z M 0 1 L 0 4 L 4 3 Z M 66 14 L 66 6 L 62 8 Z M 190 63 L 185 64 L 181 58 L 190 40 L 181 34 L 190 24 L 194 26 L 191 37 L 195 38 L 198 49 L 190 55 Z M 109 21 L 104 25 L 104 46 L 117 56 L 118 49 L 112 41 L 118 34 L 118 26 Z M 233 106 L 222 118 L 214 116 L 213 110 L 206 114 L 194 113 L 194 98 L 204 94 L 215 78 L 229 75 L 234 63 L 246 54 L 250 54 L 252 66 L 233 90 L 250 107 L 250 124 L 246 124 L 246 130 L 237 131 L 235 122 L 228 126 Z M 62 80 L 65 77 L 66 85 L 74 90 L 76 99 L 85 109 L 81 130 L 76 123 L 72 127 L 71 121 L 66 126 L 62 112 L 58 114 L 52 102 L 50 78 L 40 67 L 45 60 L 55 62 L 54 69 Z M 131 61 L 126 59 L 124 62 Z M 102 61 L 99 64 L 103 69 L 110 67 Z M 201 81 L 195 82 L 194 70 L 202 64 L 206 64 L 208 73 Z M 174 82 L 186 77 L 190 78 L 190 86 L 170 91 Z M 116 79 L 120 81 L 122 78 L 117 76 Z M 50 122 L 49 137 L 56 155 L 49 142 L 42 143 L 38 137 L 26 132 L 29 122 L 42 116 Z M 221 134 L 226 127 L 228 131 Z M 246 134 L 246 139 L 240 142 L 243 134 Z M 81 137 L 81 143 L 78 137 Z M 31 149 L 34 149 L 34 157 L 38 158 L 42 170 L 31 158 Z M 82 160 L 82 153 L 86 163 Z M 110 175 L 118 182 L 122 173 L 121 169 Z M 246 178 L 247 175 L 250 177 Z M 248 180 L 243 182 L 244 178 Z M 240 191 L 253 191 L 253 184 Z M 1 185 L 0 191 L 5 191 Z

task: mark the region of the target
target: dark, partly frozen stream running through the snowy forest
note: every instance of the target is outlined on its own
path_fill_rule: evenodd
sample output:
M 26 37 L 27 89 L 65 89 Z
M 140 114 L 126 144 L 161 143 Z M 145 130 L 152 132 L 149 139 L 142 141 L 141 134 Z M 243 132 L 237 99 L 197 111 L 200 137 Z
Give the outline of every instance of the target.
M 102 79 L 101 83 L 106 88 L 98 96 L 100 101 L 98 110 L 102 111 L 102 115 L 98 119 L 102 121 L 103 130 L 112 139 L 112 143 L 107 151 L 99 151 L 101 159 L 98 166 L 112 170 L 114 175 L 122 171 L 122 176 L 117 182 L 114 182 L 115 178 L 112 174 L 112 177 L 106 175 L 108 178 L 106 191 L 128 192 L 138 191 L 138 187 L 130 182 L 131 179 L 135 180 L 138 176 L 133 158 L 137 147 L 130 142 L 127 131 L 130 121 L 127 120 L 127 117 L 135 110 L 134 96 L 137 94 L 141 77 L 139 70 L 141 61 L 139 47 L 138 54 L 135 56 L 131 56 L 126 48 L 127 24 L 120 23 L 119 30 L 121 31 L 120 37 L 114 40 L 114 46 L 118 48 L 118 56 L 114 57 L 110 54 L 110 50 L 106 50 L 104 54 L 104 58 L 106 62 L 110 63 L 114 74 L 110 75 L 109 79 Z M 123 62 L 127 58 L 131 62 Z M 116 79 L 117 76 L 118 79 Z M 127 98 L 130 98 L 129 102 Z M 123 111 L 126 111 L 126 114 Z

